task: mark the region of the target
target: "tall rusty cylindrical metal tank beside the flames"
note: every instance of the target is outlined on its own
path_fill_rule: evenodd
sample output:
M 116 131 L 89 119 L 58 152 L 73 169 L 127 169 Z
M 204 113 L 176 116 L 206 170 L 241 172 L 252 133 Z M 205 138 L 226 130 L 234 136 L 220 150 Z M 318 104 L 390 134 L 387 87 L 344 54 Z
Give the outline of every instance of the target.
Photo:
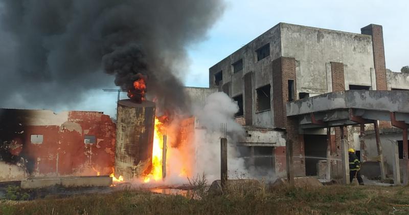
M 118 101 L 115 176 L 130 180 L 143 175 L 151 164 L 155 103 Z

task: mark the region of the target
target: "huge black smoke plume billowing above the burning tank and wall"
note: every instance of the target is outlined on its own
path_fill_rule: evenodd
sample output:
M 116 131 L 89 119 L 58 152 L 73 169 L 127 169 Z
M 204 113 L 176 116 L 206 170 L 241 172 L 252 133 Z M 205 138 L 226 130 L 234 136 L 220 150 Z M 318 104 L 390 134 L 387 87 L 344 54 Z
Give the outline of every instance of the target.
M 2 103 L 76 103 L 112 82 L 184 109 L 186 48 L 206 37 L 223 0 L 1 0 Z

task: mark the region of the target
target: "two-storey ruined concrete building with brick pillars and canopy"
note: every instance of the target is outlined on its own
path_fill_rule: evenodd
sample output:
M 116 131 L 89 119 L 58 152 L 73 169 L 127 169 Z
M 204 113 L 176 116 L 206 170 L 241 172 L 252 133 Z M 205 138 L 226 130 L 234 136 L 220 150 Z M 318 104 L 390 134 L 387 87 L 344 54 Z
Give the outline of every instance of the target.
M 270 144 L 250 140 L 241 145 L 249 147 L 253 157 L 257 157 L 254 152 L 272 152 L 270 163 L 278 176 L 291 171 L 288 165 L 285 168 L 286 163 L 292 163 L 291 174 L 294 176 L 317 175 L 317 163 L 328 158 L 331 159 L 328 162 L 332 165 L 331 176 L 345 177 L 342 175 L 346 171 L 343 169 L 345 163 L 341 162 L 345 156 L 343 149 L 354 147 L 359 155 L 361 146 L 377 148 L 377 144 L 365 144 L 359 138 L 362 132 L 365 133 L 360 125 L 367 130 L 378 125 L 381 129 L 391 127 L 390 113 L 393 110 L 389 106 L 378 110 L 379 99 L 400 105 L 395 110 L 399 112 L 398 121 L 403 121 L 402 125 L 409 123 L 405 118 L 409 113 L 409 107 L 404 105 L 407 100 L 402 100 L 409 93 L 402 91 L 409 90 L 409 76 L 387 72 L 382 26 L 379 25 L 366 26 L 361 29 L 361 34 L 357 34 L 279 23 L 211 67 L 209 86 L 237 101 L 240 107 L 237 121 L 242 122 L 247 133 L 263 130 L 264 136 L 269 136 Z M 348 90 L 361 91 L 335 93 Z M 390 90 L 400 90 L 399 95 L 382 93 Z M 309 97 L 323 94 L 326 96 L 320 101 L 309 100 Z M 369 99 L 357 99 L 362 96 Z M 331 98 L 344 102 L 338 105 Z M 352 100 L 369 102 L 370 105 L 348 106 L 347 101 Z M 315 103 L 311 103 L 313 101 Z M 310 105 L 308 111 L 297 109 L 297 112 L 296 107 L 306 104 Z M 340 112 L 330 113 L 331 108 Z M 366 116 L 360 113 L 362 110 L 372 111 L 374 116 L 368 116 L 366 121 L 350 119 Z M 342 115 L 350 112 L 346 117 Z M 402 130 L 397 132 L 401 140 L 404 139 Z M 345 147 L 342 139 L 348 140 Z M 289 146 L 291 150 L 288 150 Z M 263 152 L 264 149 L 259 147 L 268 148 Z M 373 149 L 366 150 L 366 153 L 369 151 Z M 364 156 L 369 155 L 362 155 L 361 159 Z

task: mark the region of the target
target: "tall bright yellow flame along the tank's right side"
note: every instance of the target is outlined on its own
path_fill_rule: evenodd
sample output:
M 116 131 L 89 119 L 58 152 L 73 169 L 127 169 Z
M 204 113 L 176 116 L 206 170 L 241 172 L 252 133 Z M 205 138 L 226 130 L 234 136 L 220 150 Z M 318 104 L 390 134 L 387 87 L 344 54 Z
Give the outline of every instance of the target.
M 155 117 L 155 131 L 153 134 L 152 148 L 152 169 L 150 174 L 144 178 L 148 183 L 151 179 L 155 181 L 162 180 L 162 156 L 163 156 L 163 134 L 164 124 Z

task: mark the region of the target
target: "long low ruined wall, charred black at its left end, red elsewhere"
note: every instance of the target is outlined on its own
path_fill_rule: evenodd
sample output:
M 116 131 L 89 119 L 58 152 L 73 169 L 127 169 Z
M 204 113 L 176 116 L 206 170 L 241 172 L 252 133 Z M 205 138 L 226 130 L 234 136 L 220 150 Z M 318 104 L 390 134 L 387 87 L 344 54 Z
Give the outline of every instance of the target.
M 102 112 L 2 109 L 0 128 L 1 159 L 30 176 L 112 173 L 115 123 Z

